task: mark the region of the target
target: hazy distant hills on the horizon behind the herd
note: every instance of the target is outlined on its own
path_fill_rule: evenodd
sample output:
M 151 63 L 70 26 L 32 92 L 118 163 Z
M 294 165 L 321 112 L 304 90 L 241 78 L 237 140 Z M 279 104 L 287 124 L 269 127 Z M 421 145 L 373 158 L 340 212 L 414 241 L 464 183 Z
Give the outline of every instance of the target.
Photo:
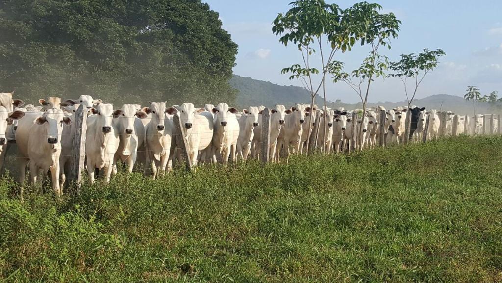
M 249 77 L 234 75 L 230 80 L 230 85 L 238 90 L 237 104 L 239 107 L 260 106 L 273 107 L 276 104 L 283 104 L 286 107 L 295 103 L 310 103 L 309 93 L 303 87 L 279 85 L 268 81 L 257 80 Z M 316 104 L 322 105 L 322 98 L 316 98 Z M 328 101 L 328 107 L 344 109 L 362 108 L 361 103 L 347 104 L 341 101 Z M 408 105 L 407 102 L 379 102 L 368 103 L 368 107 L 384 106 L 391 109 L 397 106 Z M 457 114 L 473 114 L 472 102 L 464 100 L 459 96 L 452 95 L 431 95 L 413 101 L 413 105 L 425 107 L 426 109 L 449 110 Z M 501 113 L 488 103 L 475 103 L 476 113 Z M 499 108 L 500 109 L 500 108 Z

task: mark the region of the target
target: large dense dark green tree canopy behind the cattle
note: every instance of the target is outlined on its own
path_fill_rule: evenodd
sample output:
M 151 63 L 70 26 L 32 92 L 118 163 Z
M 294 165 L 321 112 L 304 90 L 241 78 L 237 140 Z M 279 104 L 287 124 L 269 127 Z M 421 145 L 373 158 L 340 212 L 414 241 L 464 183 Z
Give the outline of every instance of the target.
M 4 0 L 0 91 L 34 99 L 233 102 L 237 45 L 200 0 Z

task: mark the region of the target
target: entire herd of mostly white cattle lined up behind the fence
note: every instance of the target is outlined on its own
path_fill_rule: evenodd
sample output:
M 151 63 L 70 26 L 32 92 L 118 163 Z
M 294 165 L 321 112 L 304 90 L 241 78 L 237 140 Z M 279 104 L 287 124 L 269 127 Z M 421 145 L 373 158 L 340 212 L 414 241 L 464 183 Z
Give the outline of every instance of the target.
M 181 145 L 186 148 L 192 165 L 198 162 L 222 163 L 258 158 L 261 152 L 262 111 L 265 107 L 249 107 L 238 111 L 226 103 L 216 107 L 193 104 L 167 107 L 165 102 L 149 102 L 148 107 L 123 105 L 113 109 L 91 96 L 62 101 L 57 97 L 40 99 L 40 106 L 27 105 L 13 98 L 13 92 L 0 93 L 0 170 L 2 170 L 9 143 L 16 143 L 15 160 L 19 166 L 19 181 L 23 184 L 29 166 L 32 183 L 40 183 L 39 175 L 50 171 L 56 195 L 62 194 L 66 174 L 72 157 L 72 140 L 76 127 L 73 114 L 80 105 L 88 111 L 85 133 L 86 168 L 91 182 L 96 170 L 104 170 L 105 182 L 116 172 L 118 161 L 124 162 L 131 172 L 137 161 L 144 162 L 145 174 L 154 177 L 172 168 L 173 159 L 180 158 Z M 24 107 L 23 107 L 24 106 Z M 316 144 L 330 153 L 350 149 L 372 148 L 380 139 L 379 121 L 383 107 L 375 110 L 345 111 L 343 109 L 311 109 L 296 104 L 291 108 L 277 105 L 271 110 L 269 149 L 272 162 L 287 162 L 290 154 L 304 152 L 309 133 L 314 128 L 316 115 L 320 115 L 320 130 Z M 352 113 L 357 113 L 353 116 Z M 418 141 L 424 132 L 425 120 L 430 116 L 427 137 L 435 138 L 440 128 L 439 112 L 424 108 L 398 107 L 385 112 L 385 140 L 399 143 L 405 132 L 405 120 L 411 115 L 410 139 Z M 182 135 L 176 134 L 173 117 L 179 117 Z M 448 112 L 447 132 L 452 129 L 454 114 Z M 352 121 L 357 117 L 357 121 Z M 466 117 L 465 117 L 466 118 Z M 482 115 L 472 117 L 464 127 L 464 117 L 457 119 L 458 133 L 474 127 L 481 132 Z M 356 123 L 357 127 L 353 127 Z M 496 126 L 497 123 L 493 123 Z M 355 132 L 355 133 L 354 133 Z M 325 133 L 325 134 L 324 134 Z M 360 138 L 353 139 L 353 135 Z M 185 137 L 185 141 L 183 141 Z M 356 144 L 350 144 L 357 140 Z M 22 192 L 22 191 L 21 191 Z

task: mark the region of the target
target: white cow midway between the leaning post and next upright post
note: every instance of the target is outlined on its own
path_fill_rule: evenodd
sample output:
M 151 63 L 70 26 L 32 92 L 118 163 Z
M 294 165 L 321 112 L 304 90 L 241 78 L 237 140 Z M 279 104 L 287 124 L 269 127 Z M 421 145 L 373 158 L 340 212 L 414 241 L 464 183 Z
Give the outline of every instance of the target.
M 216 153 L 221 154 L 223 164 L 228 162 L 228 157 L 232 162 L 235 162 L 239 137 L 239 122 L 235 114 L 238 111 L 235 108 L 229 108 L 228 104 L 222 102 L 211 112 L 214 114 L 213 163 L 216 163 Z

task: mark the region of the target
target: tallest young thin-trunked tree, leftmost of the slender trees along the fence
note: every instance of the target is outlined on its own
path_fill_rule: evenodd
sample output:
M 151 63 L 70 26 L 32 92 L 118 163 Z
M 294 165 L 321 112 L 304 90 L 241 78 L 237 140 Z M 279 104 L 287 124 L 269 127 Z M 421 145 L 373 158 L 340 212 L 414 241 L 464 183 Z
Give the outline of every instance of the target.
M 293 64 L 282 69 L 281 73 L 290 73 L 290 79 L 296 78 L 302 81 L 310 92 L 313 111 L 315 97 L 321 87 L 326 107 L 325 76 L 333 56 L 338 50 L 341 52 L 350 50 L 356 37 L 344 19 L 344 10 L 335 4 L 327 5 L 324 0 L 299 0 L 291 3 L 291 6 L 288 12 L 279 14 L 274 20 L 272 32 L 281 36 L 279 41 L 282 44 L 287 46 L 288 43 L 293 43 L 301 52 L 302 64 Z M 328 43 L 329 52 L 323 50 L 324 43 Z M 319 69 L 315 68 L 312 62 L 316 51 L 319 51 L 317 56 L 321 61 L 321 78 L 318 83 L 313 80 L 313 76 L 319 74 Z M 309 116 L 310 125 L 312 125 L 311 120 L 312 115 Z M 310 137 L 310 127 L 308 136 Z M 309 139 L 307 139 L 308 146 Z

